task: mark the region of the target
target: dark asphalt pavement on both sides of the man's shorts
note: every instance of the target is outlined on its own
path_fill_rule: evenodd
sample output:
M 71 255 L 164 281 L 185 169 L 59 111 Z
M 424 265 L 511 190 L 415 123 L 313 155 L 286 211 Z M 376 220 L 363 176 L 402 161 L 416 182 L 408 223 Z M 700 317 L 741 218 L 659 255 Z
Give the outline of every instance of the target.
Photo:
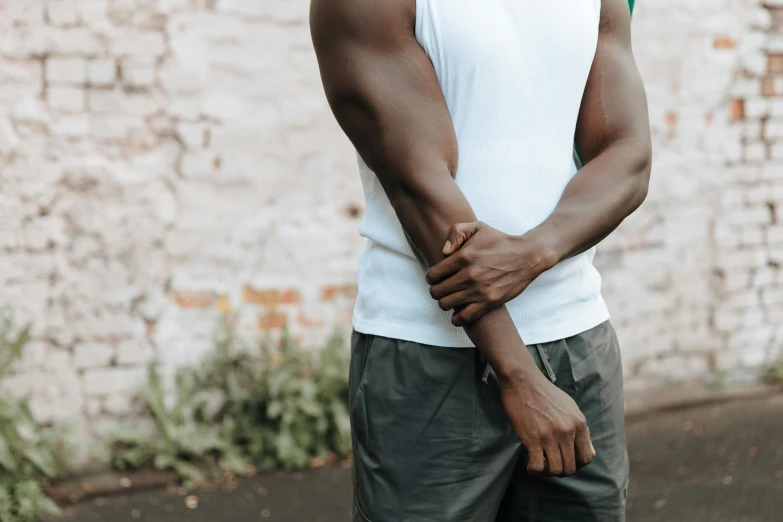
M 783 395 L 636 418 L 627 435 L 628 522 L 783 521 Z M 350 471 L 334 467 L 97 498 L 59 520 L 342 522 L 350 497 Z

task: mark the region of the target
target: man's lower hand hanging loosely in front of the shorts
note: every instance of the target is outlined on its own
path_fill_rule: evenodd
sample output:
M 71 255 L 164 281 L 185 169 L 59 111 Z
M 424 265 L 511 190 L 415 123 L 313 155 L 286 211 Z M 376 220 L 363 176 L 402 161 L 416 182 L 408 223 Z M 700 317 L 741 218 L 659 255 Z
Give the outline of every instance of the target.
M 498 375 L 508 419 L 528 453 L 532 475 L 568 476 L 595 457 L 585 416 L 541 372 Z

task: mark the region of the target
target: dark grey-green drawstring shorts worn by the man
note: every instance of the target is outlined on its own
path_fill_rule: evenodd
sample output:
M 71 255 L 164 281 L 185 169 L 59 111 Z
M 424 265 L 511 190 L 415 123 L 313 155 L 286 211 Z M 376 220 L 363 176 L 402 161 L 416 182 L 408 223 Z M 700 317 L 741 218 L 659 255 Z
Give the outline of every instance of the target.
M 528 350 L 587 418 L 596 457 L 571 477 L 527 473 L 478 350 L 354 332 L 354 522 L 624 521 L 628 457 L 614 329 L 606 322 Z

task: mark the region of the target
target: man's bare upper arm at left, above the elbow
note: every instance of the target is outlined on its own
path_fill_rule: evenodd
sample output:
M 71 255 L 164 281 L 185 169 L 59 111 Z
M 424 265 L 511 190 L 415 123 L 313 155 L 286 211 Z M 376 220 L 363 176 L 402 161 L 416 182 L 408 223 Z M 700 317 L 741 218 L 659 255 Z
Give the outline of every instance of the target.
M 315 0 L 313 12 L 323 2 Z M 453 175 L 457 152 L 437 76 L 413 34 L 414 13 L 408 21 L 390 4 L 329 2 L 311 20 L 332 111 L 384 188 L 391 181 L 416 183 L 425 174 Z

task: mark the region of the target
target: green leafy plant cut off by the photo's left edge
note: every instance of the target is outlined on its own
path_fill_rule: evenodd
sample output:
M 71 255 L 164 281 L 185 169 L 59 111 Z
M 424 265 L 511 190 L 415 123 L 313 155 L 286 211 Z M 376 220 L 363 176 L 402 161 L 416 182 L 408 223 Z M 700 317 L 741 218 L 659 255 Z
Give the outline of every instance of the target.
M 11 316 L 0 319 L 0 380 L 21 357 L 30 327 L 16 330 Z M 67 469 L 61 433 L 39 425 L 26 400 L 0 396 L 0 522 L 32 522 L 59 509 L 42 482 Z

